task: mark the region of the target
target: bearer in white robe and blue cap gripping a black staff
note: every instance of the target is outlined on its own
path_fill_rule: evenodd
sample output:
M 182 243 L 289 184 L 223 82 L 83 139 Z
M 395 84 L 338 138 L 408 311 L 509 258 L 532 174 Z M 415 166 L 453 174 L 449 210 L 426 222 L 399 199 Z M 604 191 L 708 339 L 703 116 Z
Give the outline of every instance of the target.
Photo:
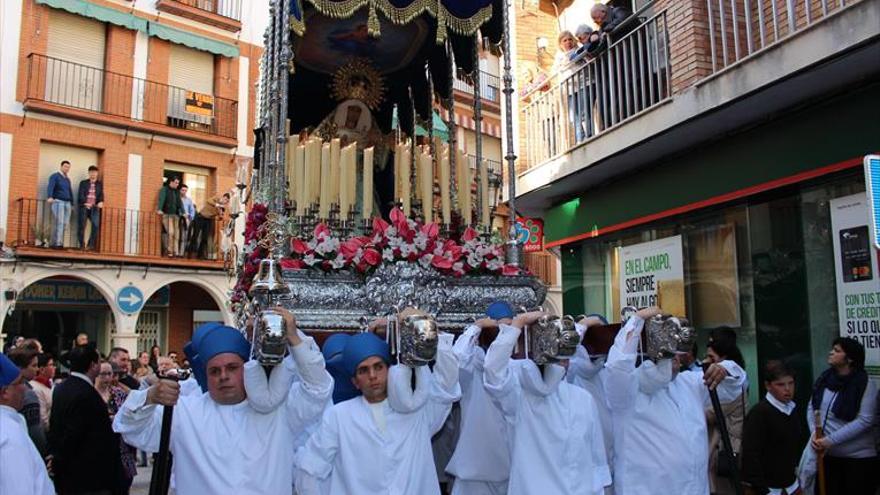
M 290 388 L 283 407 L 261 413 L 248 403 L 243 375 L 250 344 L 238 330 L 215 325 L 193 336 L 198 357 L 193 365 L 200 367 L 195 374 L 207 393 L 180 395 L 177 383 L 162 380 L 131 392 L 117 413 L 113 427 L 126 443 L 156 452 L 163 407 L 176 406 L 170 447 L 178 494 L 290 493 L 291 444 L 323 411 L 333 380 L 311 339 L 302 339 L 293 316 L 279 311 L 292 330 L 290 355 L 273 374 L 290 377 L 296 367 L 302 378 Z

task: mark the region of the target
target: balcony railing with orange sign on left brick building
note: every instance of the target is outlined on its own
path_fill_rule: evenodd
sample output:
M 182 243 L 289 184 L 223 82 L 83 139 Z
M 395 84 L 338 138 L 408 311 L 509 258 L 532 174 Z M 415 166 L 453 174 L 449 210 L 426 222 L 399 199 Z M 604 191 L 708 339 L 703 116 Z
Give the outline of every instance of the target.
M 27 100 L 235 138 L 238 102 L 46 55 L 28 56 Z

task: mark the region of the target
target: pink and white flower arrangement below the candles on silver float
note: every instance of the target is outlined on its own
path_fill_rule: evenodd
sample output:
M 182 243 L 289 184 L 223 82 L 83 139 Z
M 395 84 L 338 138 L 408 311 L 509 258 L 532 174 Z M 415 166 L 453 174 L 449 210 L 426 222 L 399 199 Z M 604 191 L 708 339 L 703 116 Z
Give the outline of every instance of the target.
M 382 263 L 407 261 L 460 277 L 466 274 L 519 275 L 522 271 L 504 263 L 500 245 L 481 238 L 468 228 L 460 242 L 440 236 L 435 223 L 420 224 L 402 211 L 391 211 L 390 223 L 373 219 L 369 236 L 341 241 L 324 224 L 315 227 L 309 239 L 291 240 L 291 257 L 282 260 L 284 268 L 313 268 L 325 272 L 344 269 L 369 273 Z

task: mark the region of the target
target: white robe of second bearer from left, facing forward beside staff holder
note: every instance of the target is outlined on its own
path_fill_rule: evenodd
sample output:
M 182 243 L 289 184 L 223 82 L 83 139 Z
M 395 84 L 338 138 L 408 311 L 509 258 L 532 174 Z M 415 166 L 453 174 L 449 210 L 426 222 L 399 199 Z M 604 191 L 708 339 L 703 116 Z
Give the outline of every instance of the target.
M 389 370 L 388 400 L 381 406 L 384 433 L 362 396 L 328 409 L 296 454 L 297 468 L 308 475 L 297 476 L 297 493 L 322 493 L 315 480 L 329 479 L 324 488 L 331 495 L 439 495 L 431 436 L 461 389 L 451 341 L 441 338 L 437 354 L 433 373 L 426 366 L 416 369 L 416 393 L 411 368 Z

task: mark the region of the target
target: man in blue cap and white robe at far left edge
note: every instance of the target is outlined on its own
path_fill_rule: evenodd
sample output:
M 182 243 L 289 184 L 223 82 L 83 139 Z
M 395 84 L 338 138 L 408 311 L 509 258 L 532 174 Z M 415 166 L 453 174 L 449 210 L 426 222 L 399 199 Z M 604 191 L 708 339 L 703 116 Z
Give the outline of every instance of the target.
M 18 367 L 0 354 L 0 493 L 54 495 L 46 465 L 18 414 L 27 390 Z

